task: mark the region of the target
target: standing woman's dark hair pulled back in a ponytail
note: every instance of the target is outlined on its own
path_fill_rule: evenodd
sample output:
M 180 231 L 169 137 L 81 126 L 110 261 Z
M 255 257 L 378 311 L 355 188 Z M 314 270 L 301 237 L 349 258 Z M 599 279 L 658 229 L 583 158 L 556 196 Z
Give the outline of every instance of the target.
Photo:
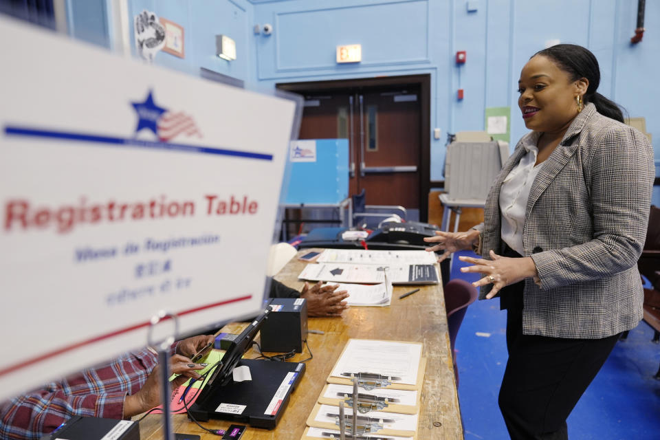
M 536 55 L 550 58 L 560 69 L 571 76 L 571 81 L 577 81 L 580 78 L 588 79 L 589 87 L 584 94 L 584 102 L 593 102 L 598 113 L 624 122 L 624 113 L 619 104 L 596 92 L 600 84 L 600 68 L 596 57 L 588 49 L 575 44 L 558 44 L 540 50 L 533 56 Z

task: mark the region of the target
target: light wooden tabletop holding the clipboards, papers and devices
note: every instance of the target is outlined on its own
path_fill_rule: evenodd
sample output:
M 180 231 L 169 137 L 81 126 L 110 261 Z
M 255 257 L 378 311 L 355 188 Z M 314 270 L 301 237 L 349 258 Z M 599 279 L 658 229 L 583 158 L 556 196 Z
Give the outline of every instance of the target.
M 300 251 L 298 255 L 309 251 Z M 305 264 L 294 257 L 275 278 L 300 289 L 303 283 L 298 281 L 298 274 Z M 463 439 L 442 287 L 421 286 L 421 290 L 416 294 L 399 300 L 399 295 L 411 289 L 410 286 L 395 287 L 390 307 L 352 307 L 344 312 L 342 318 L 309 318 L 309 329 L 325 331 L 325 334 L 309 333 L 307 341 L 314 359 L 307 362 L 307 371 L 298 388 L 292 393 L 289 406 L 277 428 L 248 428 L 241 440 L 300 439 L 305 429 L 305 421 L 349 338 L 423 342 L 423 355 L 428 359 L 428 363 L 421 393 L 417 439 Z M 256 353 L 248 351 L 246 357 L 256 358 Z M 307 357 L 305 350 L 292 361 Z M 173 418 L 175 432 L 201 435 L 203 440 L 219 439 L 201 430 L 189 421 L 186 415 L 175 415 Z M 142 440 L 162 439 L 160 423 L 161 417 L 157 415 L 149 415 L 141 421 Z M 230 422 L 210 420 L 202 424 L 208 428 L 225 429 Z

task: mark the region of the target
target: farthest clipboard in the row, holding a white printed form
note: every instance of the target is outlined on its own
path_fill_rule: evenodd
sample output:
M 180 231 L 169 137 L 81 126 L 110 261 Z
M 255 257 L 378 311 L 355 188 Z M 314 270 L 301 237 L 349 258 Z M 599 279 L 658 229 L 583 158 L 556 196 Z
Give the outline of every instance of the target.
M 422 349 L 421 342 L 349 339 L 328 382 L 350 385 L 355 376 L 370 386 L 419 391 L 426 369 Z

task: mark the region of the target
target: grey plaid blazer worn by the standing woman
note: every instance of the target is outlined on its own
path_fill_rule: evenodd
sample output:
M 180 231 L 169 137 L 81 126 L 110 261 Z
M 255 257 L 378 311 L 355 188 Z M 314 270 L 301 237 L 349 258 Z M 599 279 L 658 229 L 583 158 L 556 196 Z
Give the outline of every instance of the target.
M 500 188 L 522 142 L 489 190 L 481 253 L 500 254 Z M 643 316 L 637 259 L 646 239 L 654 179 L 646 136 L 587 104 L 533 182 L 522 244 L 540 283 L 525 280 L 522 332 L 553 338 L 605 338 Z M 491 285 L 483 286 L 484 299 Z

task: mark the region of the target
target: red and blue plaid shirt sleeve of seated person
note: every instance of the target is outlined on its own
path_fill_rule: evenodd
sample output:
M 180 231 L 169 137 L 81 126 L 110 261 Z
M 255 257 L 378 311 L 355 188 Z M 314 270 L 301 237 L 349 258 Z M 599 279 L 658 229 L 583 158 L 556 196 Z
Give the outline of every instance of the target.
M 0 406 L 1 439 L 39 439 L 70 417 L 122 419 L 124 398 L 142 388 L 157 364 L 148 349 L 125 353 Z

